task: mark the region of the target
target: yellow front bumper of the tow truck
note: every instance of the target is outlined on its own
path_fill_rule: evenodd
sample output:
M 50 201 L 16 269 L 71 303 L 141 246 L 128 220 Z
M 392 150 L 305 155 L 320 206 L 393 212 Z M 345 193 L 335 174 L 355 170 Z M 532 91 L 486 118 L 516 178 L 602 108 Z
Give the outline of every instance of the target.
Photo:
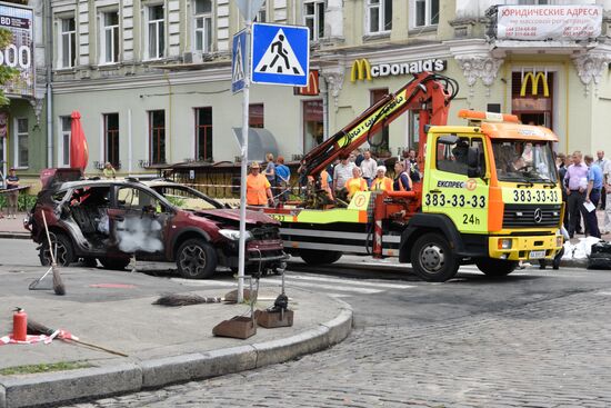
M 488 239 L 490 258 L 507 260 L 552 259 L 562 250 L 562 236 L 493 236 Z

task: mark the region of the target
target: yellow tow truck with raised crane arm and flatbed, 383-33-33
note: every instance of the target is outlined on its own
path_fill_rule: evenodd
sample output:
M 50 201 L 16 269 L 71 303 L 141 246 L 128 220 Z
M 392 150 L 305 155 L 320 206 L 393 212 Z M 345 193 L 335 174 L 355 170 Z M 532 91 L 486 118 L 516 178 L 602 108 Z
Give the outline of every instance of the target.
M 281 222 L 286 250 L 310 265 L 343 253 L 398 257 L 427 281 L 451 279 L 467 263 L 502 277 L 520 260 L 553 258 L 564 210 L 558 137 L 513 115 L 471 110 L 459 112 L 464 126 L 447 126 L 457 93 L 451 78 L 415 74 L 306 155 L 314 183 L 304 202 L 263 209 Z M 408 110 L 420 118 L 421 181 L 411 191 L 357 192 L 348 207 L 330 206 L 317 188 L 320 172 Z

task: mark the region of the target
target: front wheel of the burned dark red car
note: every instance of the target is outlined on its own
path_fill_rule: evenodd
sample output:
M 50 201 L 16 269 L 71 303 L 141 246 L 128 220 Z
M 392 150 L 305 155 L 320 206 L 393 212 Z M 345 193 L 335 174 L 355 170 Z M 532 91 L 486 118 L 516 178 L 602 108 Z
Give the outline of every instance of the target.
M 217 270 L 217 252 L 202 239 L 188 239 L 178 249 L 177 266 L 186 279 L 210 278 Z

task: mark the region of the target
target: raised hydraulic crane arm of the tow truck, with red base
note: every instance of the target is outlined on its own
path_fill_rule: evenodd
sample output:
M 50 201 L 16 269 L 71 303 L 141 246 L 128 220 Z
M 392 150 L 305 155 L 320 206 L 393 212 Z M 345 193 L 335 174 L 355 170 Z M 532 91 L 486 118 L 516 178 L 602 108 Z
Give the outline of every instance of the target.
M 343 129 L 313 148 L 304 157 L 306 175 L 318 176 L 342 153 L 350 153 L 369 140 L 381 127 L 392 122 L 407 110 L 420 113 L 420 152 L 425 142 L 424 125 L 445 125 L 450 101 L 458 93 L 455 80 L 439 73 L 415 73 L 395 93 L 387 94 Z

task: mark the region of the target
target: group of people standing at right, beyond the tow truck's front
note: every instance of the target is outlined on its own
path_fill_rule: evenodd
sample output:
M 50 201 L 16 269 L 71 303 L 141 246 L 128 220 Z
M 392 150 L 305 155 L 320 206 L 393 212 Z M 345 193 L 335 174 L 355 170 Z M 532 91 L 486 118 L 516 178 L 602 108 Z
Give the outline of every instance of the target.
M 562 180 L 562 200 L 567 203 L 564 228 L 569 237 L 575 233 L 600 238 L 611 232 L 611 160 L 604 151 L 597 151 L 597 159 L 574 151 L 570 157 L 558 153 L 557 166 Z M 595 209 L 604 210 L 603 226 L 599 227 Z

